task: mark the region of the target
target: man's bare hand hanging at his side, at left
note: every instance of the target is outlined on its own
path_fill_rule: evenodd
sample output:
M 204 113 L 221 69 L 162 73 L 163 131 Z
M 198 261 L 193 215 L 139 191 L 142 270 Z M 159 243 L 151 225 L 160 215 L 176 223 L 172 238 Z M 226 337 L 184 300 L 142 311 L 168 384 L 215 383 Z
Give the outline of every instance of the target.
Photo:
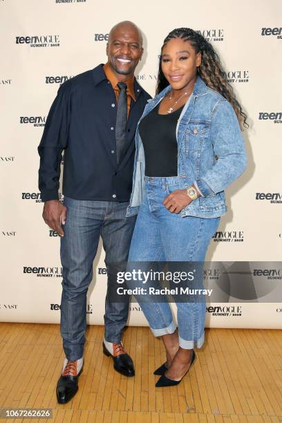
M 60 236 L 64 236 L 62 225 L 66 223 L 66 206 L 59 200 L 49 200 L 44 203 L 42 213 L 44 222 L 56 231 Z

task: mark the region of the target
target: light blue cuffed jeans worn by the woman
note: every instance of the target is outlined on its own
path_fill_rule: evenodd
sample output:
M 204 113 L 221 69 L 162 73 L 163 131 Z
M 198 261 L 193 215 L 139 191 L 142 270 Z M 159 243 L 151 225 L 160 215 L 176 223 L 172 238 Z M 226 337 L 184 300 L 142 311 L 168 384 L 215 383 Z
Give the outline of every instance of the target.
M 169 212 L 162 201 L 179 189 L 177 176 L 145 176 L 144 182 L 145 195 L 133 232 L 129 262 L 205 261 L 207 247 L 220 218 L 182 218 L 180 214 Z M 203 285 L 203 279 L 200 283 Z M 162 299 L 163 302 L 154 303 L 153 300 L 143 301 L 138 295 L 135 298 L 140 303 L 153 335 L 158 337 L 176 330 L 177 325 L 168 301 Z M 176 306 L 180 346 L 187 349 L 200 348 L 205 339 L 205 301 L 178 301 Z

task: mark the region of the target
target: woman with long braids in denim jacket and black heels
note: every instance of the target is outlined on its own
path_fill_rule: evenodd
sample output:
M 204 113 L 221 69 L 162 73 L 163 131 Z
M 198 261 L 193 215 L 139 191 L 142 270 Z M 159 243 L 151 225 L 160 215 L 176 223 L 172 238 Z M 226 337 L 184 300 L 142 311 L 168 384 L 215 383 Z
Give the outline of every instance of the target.
M 137 214 L 129 262 L 205 261 L 220 216 L 224 189 L 246 167 L 236 100 L 214 48 L 189 28 L 164 39 L 157 95 L 135 136 L 133 191 L 127 216 Z M 205 302 L 177 303 L 178 328 L 167 301 L 141 301 L 167 361 L 156 386 L 180 382 L 204 343 Z

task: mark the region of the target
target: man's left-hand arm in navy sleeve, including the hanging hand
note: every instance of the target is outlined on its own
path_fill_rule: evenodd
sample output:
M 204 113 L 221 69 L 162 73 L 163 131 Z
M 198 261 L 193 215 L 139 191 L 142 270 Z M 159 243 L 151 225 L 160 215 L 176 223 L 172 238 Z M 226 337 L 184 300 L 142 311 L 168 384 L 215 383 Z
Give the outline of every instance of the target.
M 59 202 L 59 176 L 62 151 L 68 144 L 68 122 L 70 119 L 70 99 L 68 86 L 59 88 L 38 147 L 40 156 L 39 191 L 44 201 L 43 218 L 45 223 L 64 236 L 62 224 L 66 221 L 66 207 Z

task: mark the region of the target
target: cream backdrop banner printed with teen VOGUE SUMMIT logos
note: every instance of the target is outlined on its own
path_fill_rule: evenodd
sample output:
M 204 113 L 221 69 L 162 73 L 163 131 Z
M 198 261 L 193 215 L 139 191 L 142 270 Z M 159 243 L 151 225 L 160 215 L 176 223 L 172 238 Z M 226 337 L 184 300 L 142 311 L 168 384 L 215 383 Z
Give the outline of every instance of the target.
M 207 260 L 254 262 L 241 272 L 241 281 L 246 274 L 259 279 L 266 294 L 257 300 L 254 295 L 252 303 L 230 302 L 227 296 L 226 302 L 207 304 L 207 326 L 281 328 L 281 295 L 267 299 L 270 283 L 279 284 L 282 277 L 280 0 L 126 5 L 113 0 L 0 0 L 0 320 L 59 323 L 59 236 L 41 217 L 37 146 L 60 84 L 106 62 L 109 30 L 124 19 L 144 34 L 136 77 L 151 95 L 160 47 L 173 28 L 200 31 L 220 54 L 249 116 L 250 129 L 244 131 L 248 167 L 227 189 L 229 212 L 220 220 Z M 93 265 L 86 313 L 88 323 L 101 324 L 106 293 L 102 245 Z M 216 287 L 216 272 L 209 276 Z M 137 303 L 131 305 L 129 324 L 147 326 Z

